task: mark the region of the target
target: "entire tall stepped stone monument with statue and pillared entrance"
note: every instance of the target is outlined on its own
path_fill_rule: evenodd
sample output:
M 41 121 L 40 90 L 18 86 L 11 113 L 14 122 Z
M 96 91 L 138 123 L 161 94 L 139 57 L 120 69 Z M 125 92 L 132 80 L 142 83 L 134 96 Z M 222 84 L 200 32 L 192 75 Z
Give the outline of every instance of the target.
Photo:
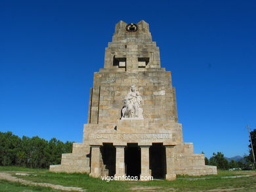
M 62 154 L 61 164 L 50 171 L 166 180 L 217 174 L 192 143 L 183 142 L 171 72 L 161 67 L 143 20 L 116 24 L 104 68 L 94 73 L 83 142 L 74 143 L 72 153 Z

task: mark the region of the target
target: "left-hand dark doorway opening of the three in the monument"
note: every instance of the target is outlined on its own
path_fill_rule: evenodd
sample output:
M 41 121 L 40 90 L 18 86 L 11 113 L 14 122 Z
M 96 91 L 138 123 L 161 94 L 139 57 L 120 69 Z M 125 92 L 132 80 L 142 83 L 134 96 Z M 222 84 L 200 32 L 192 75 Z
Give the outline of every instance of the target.
M 113 144 L 104 143 L 100 149 L 103 164 L 108 169 L 108 176 L 116 174 L 116 147 Z

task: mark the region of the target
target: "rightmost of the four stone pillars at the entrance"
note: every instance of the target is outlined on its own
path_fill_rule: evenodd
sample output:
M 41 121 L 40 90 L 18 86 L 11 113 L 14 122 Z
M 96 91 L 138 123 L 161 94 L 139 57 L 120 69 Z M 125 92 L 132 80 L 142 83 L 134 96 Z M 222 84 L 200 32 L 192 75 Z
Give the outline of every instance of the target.
M 166 153 L 166 175 L 165 180 L 176 180 L 176 174 L 174 174 L 174 146 L 165 145 Z

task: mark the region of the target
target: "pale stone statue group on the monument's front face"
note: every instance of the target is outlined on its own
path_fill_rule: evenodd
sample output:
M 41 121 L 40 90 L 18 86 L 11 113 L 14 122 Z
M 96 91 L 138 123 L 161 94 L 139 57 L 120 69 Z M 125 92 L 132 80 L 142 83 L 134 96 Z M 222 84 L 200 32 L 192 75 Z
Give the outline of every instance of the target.
M 123 118 L 137 118 L 137 119 L 143 119 L 142 115 L 142 108 L 141 108 L 141 102 L 142 98 L 140 96 L 140 93 L 136 90 L 135 85 L 130 86 L 130 91 L 127 94 L 125 100 L 122 112 Z

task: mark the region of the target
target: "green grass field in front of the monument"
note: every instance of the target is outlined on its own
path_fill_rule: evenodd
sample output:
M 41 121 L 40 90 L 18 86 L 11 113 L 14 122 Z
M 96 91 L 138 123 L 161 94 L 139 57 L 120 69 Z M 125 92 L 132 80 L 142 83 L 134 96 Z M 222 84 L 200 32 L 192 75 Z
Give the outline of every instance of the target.
M 8 172 L 17 178 L 37 183 L 81 187 L 87 191 L 256 191 L 256 171 L 219 170 L 217 176 L 177 176 L 175 181 L 154 180 L 150 182 L 102 181 L 88 174 L 52 173 L 45 169 L 30 169 L 0 166 L 0 172 Z M 28 176 L 16 176 L 16 172 L 29 173 Z M 223 178 L 242 176 L 240 178 Z M 0 180 L 0 191 L 57 191 L 49 187 L 23 185 Z

